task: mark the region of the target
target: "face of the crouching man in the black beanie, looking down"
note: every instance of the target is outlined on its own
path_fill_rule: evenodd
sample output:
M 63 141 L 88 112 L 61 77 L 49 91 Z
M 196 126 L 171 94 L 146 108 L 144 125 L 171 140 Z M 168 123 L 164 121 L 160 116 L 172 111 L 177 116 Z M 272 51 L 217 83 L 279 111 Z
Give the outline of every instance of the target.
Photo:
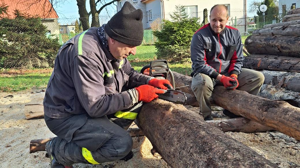
M 108 39 L 108 47 L 113 57 L 120 60 L 127 58 L 130 54 L 135 55 L 137 52 L 136 46 L 127 45 L 112 38 Z

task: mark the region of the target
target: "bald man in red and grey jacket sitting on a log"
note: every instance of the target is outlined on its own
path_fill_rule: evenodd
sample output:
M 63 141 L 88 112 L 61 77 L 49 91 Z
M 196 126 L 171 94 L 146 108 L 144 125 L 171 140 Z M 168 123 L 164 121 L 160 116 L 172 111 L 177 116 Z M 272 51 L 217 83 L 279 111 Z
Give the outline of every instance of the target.
M 209 17 L 210 23 L 194 33 L 190 46 L 193 69 L 191 87 L 204 120 L 211 120 L 209 100 L 215 85 L 257 95 L 264 82 L 262 73 L 241 68 L 244 59 L 241 35 L 237 29 L 226 26 L 229 18 L 227 7 L 214 5 Z M 237 117 L 225 109 L 223 113 Z

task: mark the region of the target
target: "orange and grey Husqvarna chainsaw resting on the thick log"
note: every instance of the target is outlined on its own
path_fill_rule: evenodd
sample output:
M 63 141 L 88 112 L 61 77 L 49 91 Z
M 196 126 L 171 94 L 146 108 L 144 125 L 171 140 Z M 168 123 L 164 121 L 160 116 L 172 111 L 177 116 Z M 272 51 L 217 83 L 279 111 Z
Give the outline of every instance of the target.
M 168 75 L 170 75 L 171 78 L 170 83 L 174 88 L 167 89 L 166 92 L 163 94 L 158 94 L 158 98 L 167 100 L 172 103 L 185 105 L 187 97 L 182 91 L 175 90 L 176 88 L 175 88 L 173 73 L 170 70 L 166 60 L 160 59 L 160 60 L 150 61 L 149 65 L 146 65 L 141 69 L 141 73 L 144 75 L 155 77 L 157 79 L 167 79 Z M 181 86 L 181 87 L 186 87 L 186 86 Z M 181 87 L 177 87 L 177 88 L 181 88 Z

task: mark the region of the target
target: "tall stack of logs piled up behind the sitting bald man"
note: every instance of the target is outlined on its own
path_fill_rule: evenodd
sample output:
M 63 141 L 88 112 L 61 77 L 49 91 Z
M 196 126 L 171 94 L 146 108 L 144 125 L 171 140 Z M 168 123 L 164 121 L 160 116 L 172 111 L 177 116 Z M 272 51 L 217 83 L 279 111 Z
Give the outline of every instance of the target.
M 265 25 L 245 41 L 251 54 L 244 68 L 262 70 L 262 97 L 300 106 L 300 8 L 291 10 L 282 23 Z

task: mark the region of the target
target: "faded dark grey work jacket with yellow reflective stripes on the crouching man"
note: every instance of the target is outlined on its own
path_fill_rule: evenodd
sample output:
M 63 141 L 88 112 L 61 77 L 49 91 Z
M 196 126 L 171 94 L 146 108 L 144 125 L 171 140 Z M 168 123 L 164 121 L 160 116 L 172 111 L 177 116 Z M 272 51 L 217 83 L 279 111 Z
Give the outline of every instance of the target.
M 102 46 L 97 29 L 78 34 L 59 49 L 44 97 L 46 116 L 113 114 L 131 107 L 122 88 L 148 82 L 150 77 L 135 71 L 126 58 L 117 60 Z

